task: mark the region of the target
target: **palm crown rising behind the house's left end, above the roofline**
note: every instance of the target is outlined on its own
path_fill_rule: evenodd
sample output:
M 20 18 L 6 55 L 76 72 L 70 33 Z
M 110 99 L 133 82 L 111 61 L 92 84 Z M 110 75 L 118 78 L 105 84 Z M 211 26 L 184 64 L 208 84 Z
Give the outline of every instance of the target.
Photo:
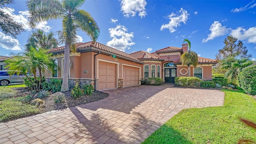
M 28 51 L 30 46 L 42 48 L 44 50 L 56 48 L 59 43 L 58 40 L 54 38 L 54 35 L 53 32 L 46 33 L 44 30 L 40 29 L 33 30 L 28 38 L 28 43 L 25 45 L 25 51 Z

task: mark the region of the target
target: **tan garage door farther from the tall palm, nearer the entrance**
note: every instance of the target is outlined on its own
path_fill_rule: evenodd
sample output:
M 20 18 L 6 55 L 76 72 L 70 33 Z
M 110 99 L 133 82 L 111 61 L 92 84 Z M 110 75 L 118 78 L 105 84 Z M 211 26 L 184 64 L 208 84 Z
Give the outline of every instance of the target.
M 140 69 L 132 66 L 123 66 L 123 86 L 134 86 L 140 84 Z

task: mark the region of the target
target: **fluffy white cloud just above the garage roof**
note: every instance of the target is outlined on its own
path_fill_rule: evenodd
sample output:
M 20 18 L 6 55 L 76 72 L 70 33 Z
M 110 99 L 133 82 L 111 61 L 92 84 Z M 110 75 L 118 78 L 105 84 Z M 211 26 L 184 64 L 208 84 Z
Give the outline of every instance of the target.
M 128 46 L 132 46 L 135 42 L 132 42 L 133 32 L 128 33 L 125 26 L 118 25 L 115 28 L 109 28 L 110 38 L 113 38 L 107 42 L 107 46 L 116 48 L 121 51 L 125 51 Z

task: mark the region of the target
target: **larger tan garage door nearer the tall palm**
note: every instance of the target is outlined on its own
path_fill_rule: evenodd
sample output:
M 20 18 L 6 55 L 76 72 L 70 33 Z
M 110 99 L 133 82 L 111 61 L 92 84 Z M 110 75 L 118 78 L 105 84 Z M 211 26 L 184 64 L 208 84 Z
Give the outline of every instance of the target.
M 116 64 L 98 62 L 99 90 L 116 88 Z

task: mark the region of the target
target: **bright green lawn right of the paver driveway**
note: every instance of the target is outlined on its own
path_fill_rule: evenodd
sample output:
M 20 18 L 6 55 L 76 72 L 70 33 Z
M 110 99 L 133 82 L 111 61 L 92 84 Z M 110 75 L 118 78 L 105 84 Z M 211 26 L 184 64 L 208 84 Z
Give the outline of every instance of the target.
M 184 109 L 142 144 L 236 144 L 256 140 L 256 130 L 239 117 L 256 122 L 256 101 L 241 90 L 223 90 L 224 106 Z

